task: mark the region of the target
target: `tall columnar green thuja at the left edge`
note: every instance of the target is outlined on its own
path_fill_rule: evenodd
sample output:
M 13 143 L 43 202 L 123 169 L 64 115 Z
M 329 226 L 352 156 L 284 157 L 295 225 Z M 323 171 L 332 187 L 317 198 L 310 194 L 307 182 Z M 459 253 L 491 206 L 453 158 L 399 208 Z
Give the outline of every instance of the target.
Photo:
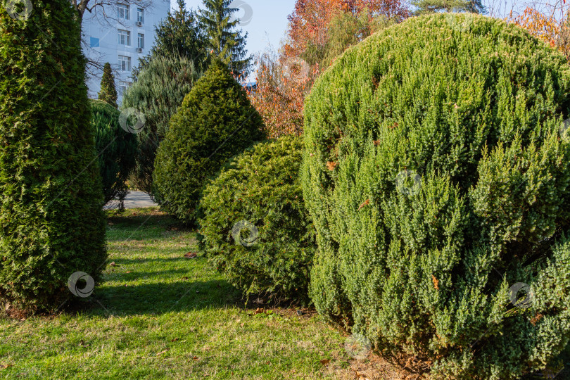
M 0 3 L 0 300 L 33 312 L 101 278 L 101 176 L 68 0 Z

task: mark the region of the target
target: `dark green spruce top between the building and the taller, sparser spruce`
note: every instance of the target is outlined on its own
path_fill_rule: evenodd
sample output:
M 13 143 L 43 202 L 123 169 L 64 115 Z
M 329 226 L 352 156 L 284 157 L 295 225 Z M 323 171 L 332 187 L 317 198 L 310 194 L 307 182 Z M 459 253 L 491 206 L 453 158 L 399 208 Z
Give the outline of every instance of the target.
M 177 0 L 178 8 L 168 13 L 166 20 L 155 27 L 156 39 L 148 56 L 141 58 L 139 66 L 133 70 L 137 80 L 139 72 L 158 57 L 179 56 L 194 63 L 198 72 L 204 72 L 210 63 L 208 39 L 201 30 L 196 12 L 186 10 L 184 0 Z

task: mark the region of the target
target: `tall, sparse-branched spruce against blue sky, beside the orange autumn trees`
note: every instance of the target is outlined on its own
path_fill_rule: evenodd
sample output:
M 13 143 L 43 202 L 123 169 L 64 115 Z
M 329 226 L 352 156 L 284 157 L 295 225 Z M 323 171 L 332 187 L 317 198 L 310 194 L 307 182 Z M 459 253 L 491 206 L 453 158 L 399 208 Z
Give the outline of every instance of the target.
M 229 65 L 234 75 L 246 77 L 251 70 L 252 56 L 247 55 L 246 39 L 236 30 L 239 20 L 230 21 L 239 11 L 229 8 L 231 0 L 204 0 L 205 9 L 200 10 L 200 24 L 208 38 L 208 48 L 215 56 Z

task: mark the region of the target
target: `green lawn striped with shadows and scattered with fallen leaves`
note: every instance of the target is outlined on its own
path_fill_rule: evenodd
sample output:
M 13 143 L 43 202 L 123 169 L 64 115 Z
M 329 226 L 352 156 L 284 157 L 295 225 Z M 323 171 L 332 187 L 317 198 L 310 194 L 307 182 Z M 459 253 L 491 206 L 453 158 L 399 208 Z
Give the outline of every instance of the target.
M 201 253 L 184 258 L 194 232 L 156 209 L 108 222 L 114 265 L 81 311 L 0 319 L 0 378 L 353 378 L 346 338 L 314 313 L 255 314 Z

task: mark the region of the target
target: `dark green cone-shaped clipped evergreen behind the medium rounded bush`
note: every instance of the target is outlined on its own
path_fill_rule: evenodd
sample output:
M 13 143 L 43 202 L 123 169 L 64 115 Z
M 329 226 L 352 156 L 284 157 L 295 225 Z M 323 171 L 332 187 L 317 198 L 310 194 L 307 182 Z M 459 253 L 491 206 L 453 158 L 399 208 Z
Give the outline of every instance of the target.
M 210 65 L 178 108 L 158 147 L 153 180 L 162 208 L 187 224 L 206 180 L 263 137 L 262 119 L 221 61 Z

